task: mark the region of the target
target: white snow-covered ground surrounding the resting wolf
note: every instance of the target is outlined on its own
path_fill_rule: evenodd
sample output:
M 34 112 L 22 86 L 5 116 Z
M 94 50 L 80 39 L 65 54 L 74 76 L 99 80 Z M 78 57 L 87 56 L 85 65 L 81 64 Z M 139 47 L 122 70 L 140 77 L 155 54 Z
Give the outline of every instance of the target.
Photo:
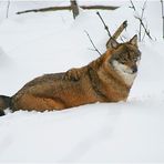
M 80 1 L 81 3 L 89 3 Z M 98 1 L 101 3 L 101 1 Z M 96 2 L 96 3 L 98 3 Z M 101 52 L 107 40 L 95 11 L 28 13 L 16 11 L 57 2 L 0 2 L 0 94 L 12 95 L 44 73 L 82 66 Z M 91 3 L 91 2 L 90 2 Z M 106 3 L 106 2 L 104 2 Z M 119 4 L 119 1 L 113 4 Z M 134 2 L 139 13 L 143 1 Z M 139 31 L 129 1 L 115 11 L 101 11 L 111 32 L 124 21 L 129 40 Z M 126 103 L 96 103 L 61 112 L 9 113 L 0 117 L 0 163 L 164 163 L 164 41 L 160 1 L 147 1 L 145 21 L 153 41 L 140 43 L 142 61 Z

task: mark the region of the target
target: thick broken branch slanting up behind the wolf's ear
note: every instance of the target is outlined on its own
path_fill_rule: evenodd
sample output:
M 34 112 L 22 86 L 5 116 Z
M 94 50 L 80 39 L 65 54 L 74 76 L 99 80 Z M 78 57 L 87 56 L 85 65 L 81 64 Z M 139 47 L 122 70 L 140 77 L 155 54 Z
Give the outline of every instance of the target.
M 124 21 L 119 28 L 117 28 L 117 30 L 114 32 L 114 34 L 112 35 L 112 38 L 114 39 L 114 40 L 116 40 L 119 37 L 120 37 L 120 34 L 122 33 L 122 31 L 125 29 L 127 27 L 127 21 Z M 111 38 L 110 38 L 111 39 Z M 110 48 L 110 39 L 109 39 L 109 41 L 106 42 L 106 49 L 109 49 Z

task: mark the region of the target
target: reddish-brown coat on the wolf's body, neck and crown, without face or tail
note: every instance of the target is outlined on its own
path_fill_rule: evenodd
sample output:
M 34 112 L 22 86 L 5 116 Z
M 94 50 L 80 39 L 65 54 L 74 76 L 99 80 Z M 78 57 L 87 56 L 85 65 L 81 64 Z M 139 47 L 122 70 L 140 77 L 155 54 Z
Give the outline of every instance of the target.
M 131 85 L 110 65 L 113 55 L 126 49 L 137 48 L 127 43 L 109 49 L 98 60 L 86 66 L 72 69 L 65 73 L 45 74 L 27 83 L 12 98 L 13 111 L 63 110 L 94 102 L 119 102 L 126 100 Z

